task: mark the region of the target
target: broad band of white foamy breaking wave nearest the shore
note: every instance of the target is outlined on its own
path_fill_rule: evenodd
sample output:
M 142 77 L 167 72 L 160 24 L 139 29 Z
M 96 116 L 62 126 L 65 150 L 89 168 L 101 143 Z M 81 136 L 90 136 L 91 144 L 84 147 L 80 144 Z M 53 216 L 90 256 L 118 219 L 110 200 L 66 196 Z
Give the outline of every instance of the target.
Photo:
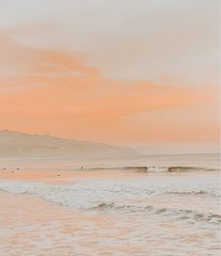
M 167 194 L 198 195 L 197 200 L 205 197 L 220 197 L 219 182 L 215 177 L 200 180 L 197 183 L 191 175 L 188 180 L 182 177 L 165 177 L 147 175 L 135 176 L 133 179 L 79 180 L 75 184 L 41 184 L 36 182 L 4 181 L 0 182 L 0 190 L 15 194 L 31 194 L 62 206 L 80 211 L 112 211 L 154 215 L 166 215 L 171 219 L 188 219 L 190 221 L 220 222 L 220 216 L 214 214 L 186 211 L 182 209 L 156 208 L 147 205 L 152 196 Z M 156 179 L 155 179 L 156 178 Z M 169 198 L 168 198 L 169 199 Z M 177 198 L 179 200 L 179 197 Z M 209 198 L 208 198 L 209 199 Z M 217 200 L 217 198 L 213 198 Z M 169 200 L 166 207 L 169 206 Z M 171 205 L 171 207 L 174 207 Z M 208 206 L 209 207 L 209 206 Z M 218 205 L 217 205 L 218 207 Z M 203 211 L 204 212 L 204 211 Z

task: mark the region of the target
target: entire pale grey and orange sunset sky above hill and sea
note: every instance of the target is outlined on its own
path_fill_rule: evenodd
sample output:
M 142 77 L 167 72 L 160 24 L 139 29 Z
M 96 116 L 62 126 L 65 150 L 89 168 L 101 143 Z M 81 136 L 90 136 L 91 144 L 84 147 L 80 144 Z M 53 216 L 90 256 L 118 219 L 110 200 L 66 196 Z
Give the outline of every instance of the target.
M 0 0 L 0 130 L 219 149 L 218 0 Z

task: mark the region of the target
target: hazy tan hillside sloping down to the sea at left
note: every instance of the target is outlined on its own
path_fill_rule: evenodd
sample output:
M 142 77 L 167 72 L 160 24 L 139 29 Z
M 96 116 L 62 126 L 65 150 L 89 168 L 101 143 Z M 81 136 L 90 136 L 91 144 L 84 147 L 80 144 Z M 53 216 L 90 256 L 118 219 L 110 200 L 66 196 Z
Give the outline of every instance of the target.
M 134 155 L 132 149 L 55 136 L 0 131 L 0 157 Z

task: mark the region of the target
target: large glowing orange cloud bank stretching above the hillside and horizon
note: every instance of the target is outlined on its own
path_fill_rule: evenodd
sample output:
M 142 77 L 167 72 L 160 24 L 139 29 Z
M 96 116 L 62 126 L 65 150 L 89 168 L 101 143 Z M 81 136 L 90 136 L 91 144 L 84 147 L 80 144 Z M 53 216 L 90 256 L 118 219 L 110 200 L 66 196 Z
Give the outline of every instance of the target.
M 2 129 L 116 143 L 218 138 L 216 87 L 109 78 L 85 65 L 79 54 L 24 45 L 6 34 L 0 46 L 6 71 L 0 76 Z M 213 107 L 205 108 L 205 102 Z M 215 113 L 210 123 L 203 113 Z M 176 123 L 178 117 L 185 123 Z M 203 131 L 197 131 L 197 122 L 203 123 Z M 182 133 L 181 123 L 188 133 Z

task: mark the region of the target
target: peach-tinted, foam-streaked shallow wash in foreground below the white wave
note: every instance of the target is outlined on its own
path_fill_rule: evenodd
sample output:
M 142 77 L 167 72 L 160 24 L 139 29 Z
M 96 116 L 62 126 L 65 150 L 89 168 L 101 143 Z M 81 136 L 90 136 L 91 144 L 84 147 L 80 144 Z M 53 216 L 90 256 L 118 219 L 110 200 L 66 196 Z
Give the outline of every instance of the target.
M 219 239 L 214 232 L 199 232 L 191 223 L 139 214 L 78 212 L 37 196 L 5 192 L 0 192 L 0 201 L 0 255 L 4 256 L 219 254 L 219 248 L 210 248 L 210 241 Z M 140 222 L 149 232 L 137 229 Z

